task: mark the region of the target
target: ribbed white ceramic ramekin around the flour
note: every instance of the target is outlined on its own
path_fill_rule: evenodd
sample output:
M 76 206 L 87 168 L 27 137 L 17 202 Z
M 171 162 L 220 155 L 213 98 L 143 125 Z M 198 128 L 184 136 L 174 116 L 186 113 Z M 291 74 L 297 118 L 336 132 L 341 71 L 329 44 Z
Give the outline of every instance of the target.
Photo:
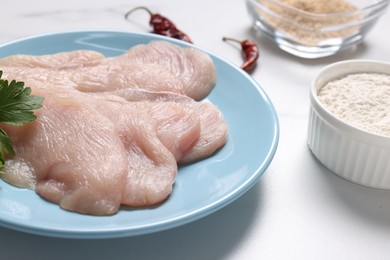
M 390 74 L 390 63 L 342 61 L 326 66 L 314 78 L 310 89 L 308 145 L 324 166 L 342 178 L 390 189 L 390 137 L 360 130 L 336 118 L 317 95 L 329 81 L 362 72 Z

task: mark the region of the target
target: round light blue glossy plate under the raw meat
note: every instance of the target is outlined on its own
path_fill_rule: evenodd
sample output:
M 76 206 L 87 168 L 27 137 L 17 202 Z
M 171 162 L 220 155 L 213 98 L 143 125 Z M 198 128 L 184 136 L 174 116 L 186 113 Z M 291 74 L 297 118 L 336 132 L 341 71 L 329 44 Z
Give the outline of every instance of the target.
M 154 34 L 73 31 L 0 45 L 0 57 L 77 49 L 115 56 L 133 45 L 151 40 L 188 45 Z M 86 216 L 62 210 L 41 199 L 34 191 L 19 189 L 0 180 L 0 225 L 54 237 L 132 236 L 197 220 L 245 193 L 264 173 L 275 154 L 279 140 L 277 114 L 270 99 L 247 73 L 210 55 L 217 67 L 217 84 L 207 100 L 222 111 L 229 125 L 228 141 L 214 156 L 180 167 L 173 193 L 166 202 L 154 208 L 123 208 L 109 217 Z

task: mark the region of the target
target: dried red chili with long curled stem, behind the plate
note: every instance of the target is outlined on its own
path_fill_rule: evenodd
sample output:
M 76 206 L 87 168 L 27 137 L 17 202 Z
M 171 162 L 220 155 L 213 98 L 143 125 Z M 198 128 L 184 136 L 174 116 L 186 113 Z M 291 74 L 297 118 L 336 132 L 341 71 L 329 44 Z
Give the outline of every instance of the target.
M 171 20 L 158 13 L 152 13 L 152 11 L 150 11 L 147 7 L 139 6 L 128 11 L 125 14 L 125 19 L 127 19 L 132 12 L 140 9 L 149 13 L 149 23 L 153 27 L 154 33 L 192 43 L 190 37 L 188 37 L 188 35 L 184 32 L 180 31 Z

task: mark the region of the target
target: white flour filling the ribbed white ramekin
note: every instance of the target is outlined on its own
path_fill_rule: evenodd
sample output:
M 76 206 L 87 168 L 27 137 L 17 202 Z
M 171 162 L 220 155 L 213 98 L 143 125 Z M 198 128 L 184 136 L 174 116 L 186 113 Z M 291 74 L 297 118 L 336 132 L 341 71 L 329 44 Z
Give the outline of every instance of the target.
M 318 98 L 344 122 L 390 136 L 390 75 L 350 74 L 326 84 Z

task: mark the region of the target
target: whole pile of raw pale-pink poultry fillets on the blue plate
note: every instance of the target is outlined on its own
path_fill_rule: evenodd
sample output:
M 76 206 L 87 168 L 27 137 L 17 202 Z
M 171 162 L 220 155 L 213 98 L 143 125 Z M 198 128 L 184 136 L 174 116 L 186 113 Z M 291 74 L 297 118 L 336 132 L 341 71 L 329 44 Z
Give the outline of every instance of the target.
M 172 191 L 178 164 L 211 156 L 227 139 L 211 58 L 164 41 L 117 57 L 88 50 L 0 59 L 5 79 L 45 98 L 37 120 L 1 125 L 14 142 L 2 178 L 62 208 L 112 215 Z

